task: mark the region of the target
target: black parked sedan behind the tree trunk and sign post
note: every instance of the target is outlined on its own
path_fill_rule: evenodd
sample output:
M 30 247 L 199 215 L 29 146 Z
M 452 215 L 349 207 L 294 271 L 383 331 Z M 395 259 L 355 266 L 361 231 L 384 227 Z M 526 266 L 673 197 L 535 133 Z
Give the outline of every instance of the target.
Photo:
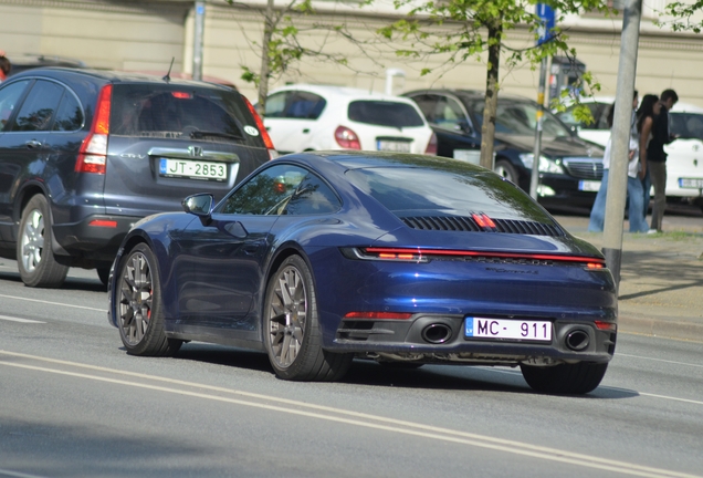
M 439 156 L 479 163 L 484 93 L 418 90 L 405 93 L 437 134 Z M 529 190 L 537 103 L 501 94 L 495 118 L 495 170 Z M 602 178 L 604 149 L 580 139 L 545 112 L 539 158 L 539 200 L 545 205 L 590 207 Z

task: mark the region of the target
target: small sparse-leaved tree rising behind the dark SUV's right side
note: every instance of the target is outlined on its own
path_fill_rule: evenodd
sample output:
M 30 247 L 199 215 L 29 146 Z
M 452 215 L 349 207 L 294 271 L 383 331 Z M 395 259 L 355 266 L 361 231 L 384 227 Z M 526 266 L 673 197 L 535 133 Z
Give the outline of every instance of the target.
M 251 8 L 251 6 L 227 0 L 229 4 Z M 326 54 L 322 48 L 311 49 L 298 41 L 300 29 L 295 19 L 301 15 L 314 14 L 312 0 L 290 0 L 286 4 L 276 7 L 274 0 L 267 0 L 263 11 L 264 29 L 261 43 L 252 42 L 258 50 L 261 63 L 258 72 L 248 65 L 242 65 L 242 80 L 254 83 L 259 91 L 258 113 L 263 116 L 269 96 L 269 82 L 280 77 L 303 56 L 323 58 L 338 64 L 346 64 L 346 59 L 339 54 Z M 318 25 L 315 25 L 317 28 Z M 330 28 L 334 30 L 334 28 Z

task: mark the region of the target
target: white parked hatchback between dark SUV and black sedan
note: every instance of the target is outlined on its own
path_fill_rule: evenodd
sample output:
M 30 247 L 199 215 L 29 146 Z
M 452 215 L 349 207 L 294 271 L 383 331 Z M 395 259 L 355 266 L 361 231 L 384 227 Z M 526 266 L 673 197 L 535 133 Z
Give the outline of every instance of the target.
M 266 98 L 264 124 L 281 153 L 322 149 L 434 154 L 411 101 L 338 86 L 290 85 Z

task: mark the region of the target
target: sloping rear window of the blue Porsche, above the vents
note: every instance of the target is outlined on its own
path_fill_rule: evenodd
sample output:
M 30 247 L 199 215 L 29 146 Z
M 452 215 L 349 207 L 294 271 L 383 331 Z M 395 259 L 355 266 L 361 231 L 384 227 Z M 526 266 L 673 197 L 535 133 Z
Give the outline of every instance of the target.
M 427 167 L 352 169 L 349 180 L 396 216 L 471 216 L 554 224 L 529 196 L 500 176 L 444 162 Z

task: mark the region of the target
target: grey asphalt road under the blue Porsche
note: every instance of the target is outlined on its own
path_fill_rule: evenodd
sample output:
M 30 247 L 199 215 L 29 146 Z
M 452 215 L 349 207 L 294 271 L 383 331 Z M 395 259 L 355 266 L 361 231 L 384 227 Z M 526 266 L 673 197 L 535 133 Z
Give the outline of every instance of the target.
M 128 356 L 94 271 L 22 285 L 0 259 L 0 477 L 703 475 L 703 343 L 620 334 L 587 396 L 512 368 L 276 380 L 260 353 Z

